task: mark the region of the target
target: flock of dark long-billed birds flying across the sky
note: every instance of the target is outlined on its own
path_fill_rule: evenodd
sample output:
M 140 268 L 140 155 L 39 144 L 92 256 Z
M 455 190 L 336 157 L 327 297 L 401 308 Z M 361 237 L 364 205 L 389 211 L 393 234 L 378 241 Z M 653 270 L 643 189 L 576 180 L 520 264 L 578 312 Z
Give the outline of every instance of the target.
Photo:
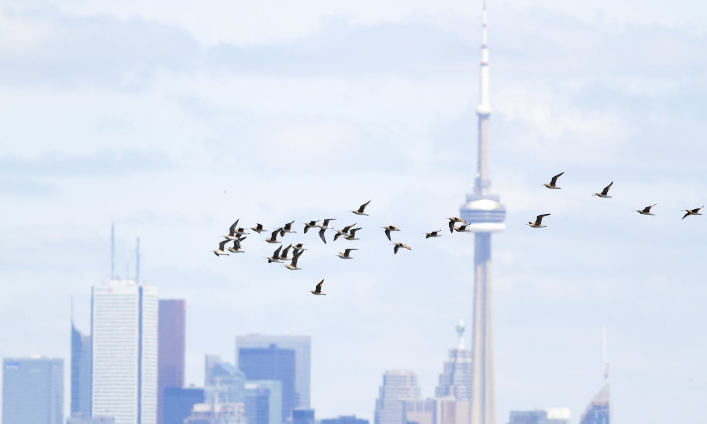
M 560 172 L 558 175 L 555 175 L 554 177 L 551 178 L 550 182 L 547 184 L 543 184 L 545 187 L 549 189 L 560 189 L 561 187 L 557 186 L 557 179 L 563 175 L 564 172 Z M 612 185 L 614 182 L 611 182 L 607 187 L 604 187 L 604 189 L 599 192 L 599 193 L 593 193 L 592 196 L 597 196 L 601 197 L 604 199 L 611 198 L 612 196 L 609 196 L 609 189 L 612 188 Z M 368 216 L 368 213 L 366 213 L 366 206 L 370 204 L 370 200 L 367 201 L 365 204 L 362 204 L 358 209 L 355 209 L 354 211 L 351 211 L 352 213 L 355 213 L 356 215 L 359 216 Z M 650 205 L 650 206 L 645 206 L 643 209 L 636 210 L 634 212 L 641 213 L 641 215 L 651 215 L 655 216 L 654 213 L 650 211 L 653 206 L 656 204 Z M 702 215 L 700 213 L 700 210 L 704 208 L 704 206 L 701 206 L 699 208 L 694 208 L 694 209 L 683 209 L 682 211 L 686 212 L 685 215 L 682 217 L 682 219 L 690 216 L 690 215 Z M 529 222 L 527 225 L 530 225 L 532 228 L 544 228 L 547 227 L 547 225 L 542 224 L 542 219 L 545 218 L 546 216 L 549 216 L 550 213 L 542 213 L 541 215 L 538 215 L 535 218 L 534 222 Z M 308 232 L 311 228 L 319 228 L 319 237 L 324 242 L 325 244 L 327 243 L 327 237 L 326 237 L 326 232 L 327 230 L 332 230 L 335 232 L 333 240 L 336 241 L 339 238 L 344 238 L 345 240 L 361 240 L 358 237 L 356 237 L 356 231 L 361 230 L 361 227 L 356 227 L 356 223 L 347 225 L 344 228 L 341 228 L 341 230 L 336 230 L 332 225 L 333 220 L 336 220 L 337 218 L 327 218 L 325 220 L 322 220 L 322 223 L 318 224 L 319 220 L 310 220 L 307 223 L 302 223 L 304 225 L 304 230 L 303 232 Z M 469 225 L 465 220 L 459 217 L 452 216 L 450 218 L 447 218 L 449 220 L 449 231 L 450 232 L 470 232 L 471 230 L 467 229 L 467 226 Z M 243 253 L 243 249 L 241 249 L 241 243 L 243 240 L 245 240 L 247 235 L 250 234 L 248 232 L 247 228 L 242 228 L 238 227 L 238 221 L 236 220 L 233 225 L 230 226 L 228 230 L 228 235 L 222 236 L 225 240 L 221 241 L 218 243 L 218 249 L 215 250 L 210 250 L 209 252 L 214 252 L 217 257 L 219 256 L 228 256 L 229 253 Z M 286 223 L 282 227 L 276 228 L 274 231 L 270 233 L 270 237 L 267 237 L 264 239 L 264 241 L 270 243 L 270 244 L 278 244 L 282 243 L 281 240 L 278 240 L 278 237 L 282 238 L 284 237 L 288 232 L 296 232 L 295 230 L 292 229 L 292 225 L 295 223 L 295 221 L 291 221 L 289 223 Z M 457 226 L 457 223 L 460 224 Z M 392 241 L 390 237 L 390 233 L 393 231 L 400 231 L 399 228 L 397 228 L 395 225 L 386 225 L 385 227 L 381 227 L 384 231 L 385 237 L 389 241 Z M 254 232 L 266 232 L 265 228 L 261 223 L 256 223 L 254 227 L 251 227 L 250 230 Z M 431 232 L 425 232 L 423 233 L 425 235 L 425 238 L 431 238 L 431 237 L 440 237 L 442 230 L 435 230 Z M 228 242 L 233 242 L 233 246 L 226 247 L 226 244 Z M 283 249 L 283 246 L 280 245 L 275 249 L 271 257 L 266 257 L 264 259 L 267 259 L 268 263 L 271 264 L 273 262 L 283 264 L 286 269 L 295 271 L 298 269 L 301 269 L 298 266 L 298 261 L 302 254 L 307 250 L 304 247 L 304 243 L 298 243 L 297 245 L 290 244 L 287 247 Z M 397 254 L 397 252 L 400 249 L 408 249 L 412 250 L 411 247 L 406 245 L 405 243 L 402 242 L 395 242 L 392 243 L 393 247 L 393 254 Z M 289 257 L 290 250 L 292 250 L 292 257 Z M 351 256 L 351 252 L 354 252 L 354 250 L 358 250 L 356 248 L 349 248 L 349 249 L 344 249 L 344 252 L 339 252 L 338 256 L 341 259 L 354 259 L 354 257 Z M 284 264 L 285 262 L 289 262 L 288 264 Z M 315 290 L 309 290 L 310 293 L 314 295 L 325 295 L 325 293 L 322 293 L 322 285 L 324 284 L 324 280 L 320 281 Z

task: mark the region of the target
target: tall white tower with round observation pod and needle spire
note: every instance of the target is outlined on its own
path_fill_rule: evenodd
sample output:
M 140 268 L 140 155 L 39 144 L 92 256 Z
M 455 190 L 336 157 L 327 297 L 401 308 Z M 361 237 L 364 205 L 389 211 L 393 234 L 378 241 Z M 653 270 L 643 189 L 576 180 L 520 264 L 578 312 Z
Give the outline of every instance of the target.
M 471 424 L 496 424 L 493 384 L 493 314 L 491 307 L 491 233 L 506 228 L 506 208 L 491 194 L 489 177 L 489 48 L 486 45 L 486 0 L 484 0 L 479 67 L 479 155 L 474 188 L 461 208 L 462 219 L 474 231 L 474 312 L 472 319 Z

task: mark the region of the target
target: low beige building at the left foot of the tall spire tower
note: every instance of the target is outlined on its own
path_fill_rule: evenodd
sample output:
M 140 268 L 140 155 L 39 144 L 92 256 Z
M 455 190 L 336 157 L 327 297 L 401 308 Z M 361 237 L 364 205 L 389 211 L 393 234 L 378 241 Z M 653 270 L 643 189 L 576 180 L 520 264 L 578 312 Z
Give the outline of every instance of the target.
M 468 424 L 469 401 L 453 397 L 404 401 L 405 422 L 417 424 Z

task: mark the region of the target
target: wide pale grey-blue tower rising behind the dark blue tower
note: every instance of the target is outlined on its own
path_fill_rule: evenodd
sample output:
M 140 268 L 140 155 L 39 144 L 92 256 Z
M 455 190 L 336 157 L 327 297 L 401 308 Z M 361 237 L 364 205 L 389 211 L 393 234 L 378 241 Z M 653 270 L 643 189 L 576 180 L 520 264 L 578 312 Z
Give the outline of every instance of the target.
M 310 336 L 267 336 L 264 334 L 236 336 L 235 354 L 238 355 L 239 348 L 267 348 L 271 344 L 295 351 L 295 406 L 309 408 L 312 339 Z M 238 358 L 235 358 L 235 363 L 238 363 Z M 248 379 L 252 378 L 248 377 Z

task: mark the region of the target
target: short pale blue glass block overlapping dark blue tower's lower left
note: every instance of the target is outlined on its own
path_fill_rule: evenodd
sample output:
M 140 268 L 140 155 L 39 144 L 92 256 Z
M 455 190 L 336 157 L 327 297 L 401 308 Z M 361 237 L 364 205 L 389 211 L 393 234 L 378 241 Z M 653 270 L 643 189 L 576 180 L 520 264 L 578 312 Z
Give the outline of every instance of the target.
M 245 382 L 245 416 L 248 424 L 282 423 L 282 384 L 279 380 Z

